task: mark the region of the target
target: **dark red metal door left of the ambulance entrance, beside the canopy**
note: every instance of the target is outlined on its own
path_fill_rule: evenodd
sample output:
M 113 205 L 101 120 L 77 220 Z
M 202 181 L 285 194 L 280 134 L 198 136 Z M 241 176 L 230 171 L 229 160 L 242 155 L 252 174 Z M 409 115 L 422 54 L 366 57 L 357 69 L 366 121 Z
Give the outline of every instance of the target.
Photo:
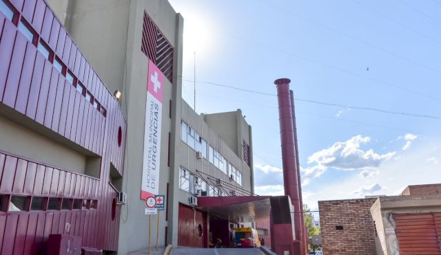
M 207 212 L 179 204 L 178 245 L 208 247 Z

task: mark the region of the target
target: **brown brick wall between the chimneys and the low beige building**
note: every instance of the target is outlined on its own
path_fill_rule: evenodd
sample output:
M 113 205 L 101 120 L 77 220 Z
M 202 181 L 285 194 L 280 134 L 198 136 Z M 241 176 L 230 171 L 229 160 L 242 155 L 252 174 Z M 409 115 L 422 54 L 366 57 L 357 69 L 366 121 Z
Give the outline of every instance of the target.
M 318 201 L 324 254 L 376 254 L 370 212 L 375 201 L 376 198 Z M 336 230 L 337 226 L 342 230 Z

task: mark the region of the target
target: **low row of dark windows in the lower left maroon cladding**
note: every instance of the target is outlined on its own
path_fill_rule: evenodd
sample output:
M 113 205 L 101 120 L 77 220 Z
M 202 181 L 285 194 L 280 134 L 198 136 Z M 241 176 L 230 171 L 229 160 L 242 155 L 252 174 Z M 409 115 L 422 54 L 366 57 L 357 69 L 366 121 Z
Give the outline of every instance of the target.
M 85 210 L 96 208 L 98 208 L 98 200 L 96 199 L 0 195 L 0 212 Z

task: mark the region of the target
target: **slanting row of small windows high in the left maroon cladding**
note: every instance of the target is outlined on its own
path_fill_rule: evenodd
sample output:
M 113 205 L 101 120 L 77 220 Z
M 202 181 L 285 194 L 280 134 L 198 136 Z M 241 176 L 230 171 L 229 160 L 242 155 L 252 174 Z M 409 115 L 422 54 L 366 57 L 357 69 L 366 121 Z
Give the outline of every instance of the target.
M 104 117 L 107 115 L 106 109 L 103 105 L 92 96 L 92 93 L 88 91 L 85 86 L 74 76 L 72 71 L 68 69 L 66 65 L 48 46 L 47 43 L 43 41 L 42 38 L 39 38 L 38 34 L 34 32 L 32 27 L 29 25 L 27 21 L 21 17 L 19 19 L 19 12 L 17 12 L 10 3 L 6 0 L 0 0 L 0 11 L 6 16 L 6 19 L 14 23 L 14 25 L 18 25 L 19 31 L 28 38 L 29 41 L 32 42 L 33 45 L 37 46 L 38 51 L 49 60 L 52 65 L 54 65 L 55 69 L 57 69 L 63 76 L 65 76 L 66 80 L 76 88 L 76 90 L 81 93 L 82 96 L 85 97 L 93 107 L 98 110 Z

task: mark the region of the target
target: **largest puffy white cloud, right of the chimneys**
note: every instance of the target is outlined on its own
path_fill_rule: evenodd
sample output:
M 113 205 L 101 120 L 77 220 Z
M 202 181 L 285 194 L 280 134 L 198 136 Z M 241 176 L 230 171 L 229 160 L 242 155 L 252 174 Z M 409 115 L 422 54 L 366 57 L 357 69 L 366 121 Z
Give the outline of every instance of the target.
M 336 142 L 331 147 L 309 156 L 308 164 L 316 163 L 320 166 L 342 170 L 377 168 L 396 154 L 396 152 L 390 152 L 380 155 L 374 153 L 372 149 L 362 151 L 360 145 L 367 144 L 370 140 L 371 137 L 357 135 L 346 142 Z

